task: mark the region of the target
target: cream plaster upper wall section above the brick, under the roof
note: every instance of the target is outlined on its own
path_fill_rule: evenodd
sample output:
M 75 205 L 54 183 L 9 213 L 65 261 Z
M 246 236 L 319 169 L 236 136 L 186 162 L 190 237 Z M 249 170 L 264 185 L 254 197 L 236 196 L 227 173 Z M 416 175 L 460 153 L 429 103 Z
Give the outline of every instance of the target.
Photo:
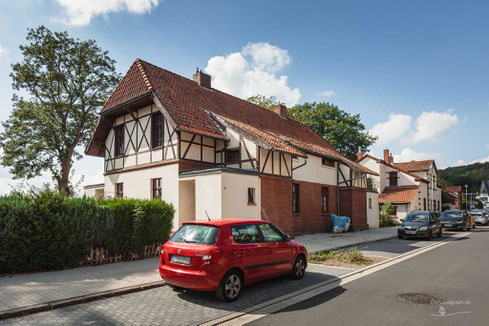
M 292 166 L 295 168 L 304 164 L 304 158 L 292 160 Z M 349 178 L 350 173 L 345 175 Z M 298 181 L 315 182 L 336 186 L 336 167 L 323 166 L 322 159 L 318 156 L 309 155 L 307 164 L 294 170 L 292 178 Z M 341 178 L 340 178 L 341 180 Z

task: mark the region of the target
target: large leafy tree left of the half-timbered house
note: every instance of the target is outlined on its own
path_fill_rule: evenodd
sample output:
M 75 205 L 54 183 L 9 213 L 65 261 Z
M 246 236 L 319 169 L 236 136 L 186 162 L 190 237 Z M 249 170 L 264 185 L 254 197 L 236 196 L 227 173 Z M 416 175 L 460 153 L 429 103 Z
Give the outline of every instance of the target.
M 12 65 L 13 110 L 0 133 L 3 157 L 14 178 L 49 172 L 70 193 L 70 171 L 80 159 L 97 121 L 97 111 L 120 79 L 115 61 L 94 40 L 80 41 L 44 26 L 29 29 Z

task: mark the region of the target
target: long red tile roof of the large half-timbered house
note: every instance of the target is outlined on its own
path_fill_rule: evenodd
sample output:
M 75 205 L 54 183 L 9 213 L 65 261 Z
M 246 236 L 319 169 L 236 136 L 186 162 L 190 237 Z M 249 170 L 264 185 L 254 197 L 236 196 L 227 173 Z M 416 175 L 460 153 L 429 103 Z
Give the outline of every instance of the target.
M 136 59 L 101 113 L 112 111 L 148 92 L 162 103 L 180 130 L 226 138 L 207 113 L 211 112 L 270 144 L 275 150 L 304 155 L 302 152 L 313 147 L 315 150 L 310 152 L 338 158 L 353 169 L 376 174 L 342 156 L 323 137 L 302 123 L 285 119 L 217 89 L 201 87 L 191 79 L 140 59 Z

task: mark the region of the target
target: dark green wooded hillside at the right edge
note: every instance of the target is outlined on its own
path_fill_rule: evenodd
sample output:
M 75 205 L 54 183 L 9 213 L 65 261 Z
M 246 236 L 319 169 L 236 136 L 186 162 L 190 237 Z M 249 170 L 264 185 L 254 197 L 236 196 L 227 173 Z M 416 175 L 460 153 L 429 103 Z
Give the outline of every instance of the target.
M 439 171 L 440 183 L 444 186 L 469 186 L 469 192 L 478 192 L 482 180 L 489 180 L 489 162 L 449 167 Z

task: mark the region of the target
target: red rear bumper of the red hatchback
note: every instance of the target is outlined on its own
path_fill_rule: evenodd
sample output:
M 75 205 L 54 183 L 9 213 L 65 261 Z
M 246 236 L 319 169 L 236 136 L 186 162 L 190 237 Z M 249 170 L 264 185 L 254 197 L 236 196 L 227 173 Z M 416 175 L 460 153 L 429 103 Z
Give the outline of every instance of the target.
M 185 289 L 213 291 L 220 282 L 220 277 L 212 276 L 205 270 L 189 271 L 160 264 L 159 272 L 167 283 Z

